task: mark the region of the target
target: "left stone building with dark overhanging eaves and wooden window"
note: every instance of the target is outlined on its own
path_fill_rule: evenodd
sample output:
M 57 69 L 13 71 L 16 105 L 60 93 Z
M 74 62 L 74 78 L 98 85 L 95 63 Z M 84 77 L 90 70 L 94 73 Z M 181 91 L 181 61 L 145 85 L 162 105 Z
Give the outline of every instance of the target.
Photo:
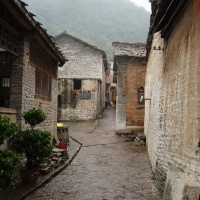
M 20 0 L 0 1 L 0 115 L 25 127 L 22 112 L 41 108 L 56 132 L 57 72 L 65 58 Z

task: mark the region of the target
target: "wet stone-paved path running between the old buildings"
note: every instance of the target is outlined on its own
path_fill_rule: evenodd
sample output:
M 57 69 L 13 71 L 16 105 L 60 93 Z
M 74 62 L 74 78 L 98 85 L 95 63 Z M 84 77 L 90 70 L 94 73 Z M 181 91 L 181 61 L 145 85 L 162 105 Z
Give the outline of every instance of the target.
M 115 110 L 108 108 L 95 127 L 70 123 L 70 136 L 82 144 L 72 163 L 26 200 L 160 200 L 146 147 L 114 132 Z M 94 125 L 94 124 L 93 124 Z

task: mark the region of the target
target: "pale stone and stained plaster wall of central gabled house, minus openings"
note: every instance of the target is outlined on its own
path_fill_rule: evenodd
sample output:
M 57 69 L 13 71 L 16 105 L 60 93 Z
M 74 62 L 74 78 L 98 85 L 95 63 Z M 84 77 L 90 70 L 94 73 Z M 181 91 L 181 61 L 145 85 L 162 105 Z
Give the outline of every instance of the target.
M 76 107 L 69 102 L 65 103 L 67 106 L 62 106 L 60 120 L 90 120 L 100 117 L 105 104 L 105 71 L 102 52 L 68 35 L 61 36 L 56 39 L 56 42 L 69 60 L 59 68 L 58 73 L 59 79 L 65 79 L 67 83 L 60 93 L 62 101 L 63 98 L 66 100 L 66 94 L 70 96 L 73 90 L 73 79 L 82 80 L 81 91 L 91 91 L 91 99 L 80 100 L 78 97 Z M 85 84 L 90 86 L 87 87 Z

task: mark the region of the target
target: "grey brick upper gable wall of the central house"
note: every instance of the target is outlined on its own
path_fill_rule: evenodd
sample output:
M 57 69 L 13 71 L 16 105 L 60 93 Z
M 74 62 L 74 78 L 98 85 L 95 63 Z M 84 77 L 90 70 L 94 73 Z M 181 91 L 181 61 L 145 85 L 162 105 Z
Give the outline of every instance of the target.
M 68 62 L 59 68 L 59 78 L 101 79 L 102 80 L 102 53 L 74 40 L 71 37 L 61 37 L 56 40 Z

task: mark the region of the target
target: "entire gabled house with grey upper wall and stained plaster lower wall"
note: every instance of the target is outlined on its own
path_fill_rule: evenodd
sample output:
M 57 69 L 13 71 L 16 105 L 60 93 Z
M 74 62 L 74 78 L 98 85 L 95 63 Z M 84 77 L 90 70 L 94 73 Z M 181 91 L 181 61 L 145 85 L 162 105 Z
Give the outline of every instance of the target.
M 101 117 L 105 108 L 106 53 L 67 32 L 54 40 L 68 60 L 58 74 L 60 120 Z

